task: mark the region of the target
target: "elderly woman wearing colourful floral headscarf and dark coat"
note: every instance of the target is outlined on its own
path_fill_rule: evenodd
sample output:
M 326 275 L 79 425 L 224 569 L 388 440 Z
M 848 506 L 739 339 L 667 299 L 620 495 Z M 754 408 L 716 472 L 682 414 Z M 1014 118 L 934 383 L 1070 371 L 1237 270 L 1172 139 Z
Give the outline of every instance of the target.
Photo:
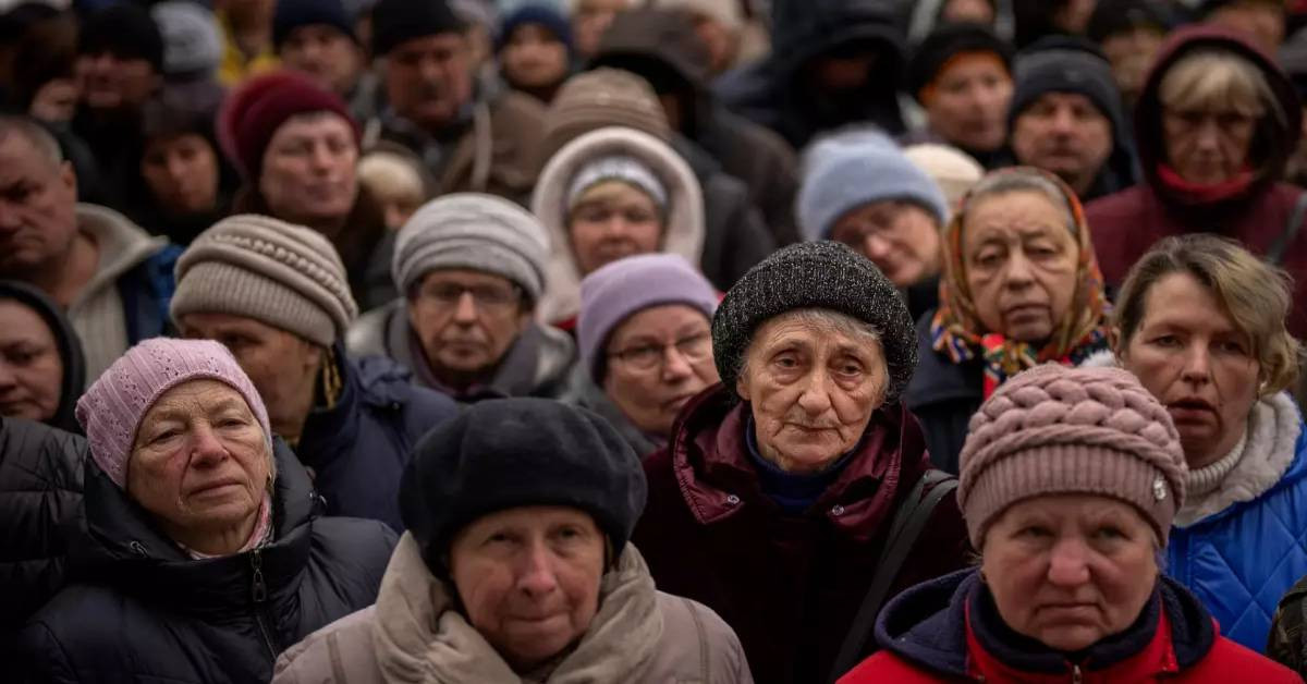
M 967 424 L 1008 377 L 1107 348 L 1107 303 L 1076 194 L 1031 167 L 996 171 L 944 235 L 940 309 L 918 322 L 921 365 L 904 403 L 931 458 L 958 472 Z

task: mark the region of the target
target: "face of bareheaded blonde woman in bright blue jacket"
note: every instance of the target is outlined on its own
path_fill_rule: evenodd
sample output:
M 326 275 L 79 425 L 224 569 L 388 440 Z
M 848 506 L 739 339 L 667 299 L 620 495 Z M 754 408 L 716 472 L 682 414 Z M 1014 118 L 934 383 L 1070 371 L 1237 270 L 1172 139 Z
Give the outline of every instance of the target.
M 1229 454 L 1247 430 L 1261 364 L 1248 335 L 1189 273 L 1162 277 L 1144 302 L 1121 365 L 1166 405 L 1185 460 L 1200 468 Z

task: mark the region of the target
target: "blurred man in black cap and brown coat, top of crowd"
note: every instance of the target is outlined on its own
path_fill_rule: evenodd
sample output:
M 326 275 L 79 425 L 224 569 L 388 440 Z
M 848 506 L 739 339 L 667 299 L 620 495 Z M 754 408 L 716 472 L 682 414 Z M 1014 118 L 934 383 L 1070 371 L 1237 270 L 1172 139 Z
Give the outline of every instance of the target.
M 525 201 L 544 110 L 520 93 L 477 92 L 465 29 L 444 0 L 376 4 L 372 52 L 386 58 L 389 105 L 369 123 L 370 137 L 375 132 L 417 152 L 440 192 L 471 190 Z

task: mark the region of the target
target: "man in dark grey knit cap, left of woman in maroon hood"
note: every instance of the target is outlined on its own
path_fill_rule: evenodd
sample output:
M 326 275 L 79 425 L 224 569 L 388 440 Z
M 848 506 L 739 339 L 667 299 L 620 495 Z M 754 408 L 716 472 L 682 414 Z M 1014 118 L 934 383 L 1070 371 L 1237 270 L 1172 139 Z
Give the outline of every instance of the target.
M 1012 152 L 1063 179 L 1080 201 L 1134 184 L 1134 153 L 1112 68 L 1093 44 L 1051 38 L 1017 60 Z

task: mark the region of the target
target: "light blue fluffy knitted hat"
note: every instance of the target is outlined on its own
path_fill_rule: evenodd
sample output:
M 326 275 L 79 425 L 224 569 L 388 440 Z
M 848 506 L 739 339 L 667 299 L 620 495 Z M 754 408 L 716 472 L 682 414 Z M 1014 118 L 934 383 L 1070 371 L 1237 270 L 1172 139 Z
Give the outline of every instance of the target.
M 799 229 L 806 239 L 827 239 L 840 217 L 885 200 L 911 201 L 941 226 L 949 220 L 940 186 L 887 136 L 860 131 L 853 140 L 827 139 L 808 153 L 795 203 Z

